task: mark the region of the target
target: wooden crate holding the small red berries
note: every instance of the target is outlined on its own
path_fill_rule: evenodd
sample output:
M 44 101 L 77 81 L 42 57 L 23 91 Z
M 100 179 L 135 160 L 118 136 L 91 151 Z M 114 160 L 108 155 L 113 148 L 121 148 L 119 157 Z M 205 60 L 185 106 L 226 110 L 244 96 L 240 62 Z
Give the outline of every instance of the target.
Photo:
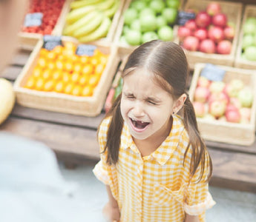
M 70 2 L 73 0 L 65 0 L 65 3 L 62 7 L 62 12 L 59 14 L 58 21 L 52 31 L 53 36 L 61 36 L 60 27 L 62 27 L 63 21 L 65 20 L 65 16 L 68 13 Z M 33 50 L 36 46 L 37 42 L 42 38 L 42 35 L 39 33 L 24 33 L 20 32 L 19 36 L 19 47 L 24 50 Z

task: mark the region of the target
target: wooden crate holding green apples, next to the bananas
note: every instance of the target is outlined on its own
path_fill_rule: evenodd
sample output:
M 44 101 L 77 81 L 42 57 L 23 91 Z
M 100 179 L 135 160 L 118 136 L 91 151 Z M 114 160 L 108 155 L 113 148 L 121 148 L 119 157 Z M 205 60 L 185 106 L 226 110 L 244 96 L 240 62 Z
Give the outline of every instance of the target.
M 137 48 L 137 46 L 131 46 L 129 44 L 123 44 L 122 42 L 119 41 L 119 38 L 122 36 L 122 27 L 124 26 L 124 13 L 125 13 L 125 10 L 128 9 L 128 7 L 130 6 L 131 4 L 131 1 L 133 0 L 126 0 L 125 1 L 125 4 L 124 4 L 124 7 L 122 9 L 122 13 L 121 13 L 121 16 L 119 18 L 119 23 L 117 24 L 117 27 L 116 27 L 116 33 L 115 33 L 115 36 L 114 36 L 114 43 L 117 44 L 119 47 L 126 47 L 126 48 L 130 48 L 131 50 L 134 50 L 135 48 Z M 183 5 L 184 5 L 184 0 L 180 0 L 180 10 L 183 9 Z M 174 26 L 174 40 L 176 39 L 175 36 L 177 33 L 177 28 L 175 29 L 175 26 Z

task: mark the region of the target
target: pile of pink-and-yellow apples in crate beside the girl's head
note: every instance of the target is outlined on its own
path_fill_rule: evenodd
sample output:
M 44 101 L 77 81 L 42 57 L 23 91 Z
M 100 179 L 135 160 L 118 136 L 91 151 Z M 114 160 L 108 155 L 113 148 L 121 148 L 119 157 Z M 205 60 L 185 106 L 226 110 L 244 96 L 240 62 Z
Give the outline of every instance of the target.
M 249 124 L 253 98 L 252 89 L 238 78 L 224 83 L 200 75 L 193 105 L 198 118 Z

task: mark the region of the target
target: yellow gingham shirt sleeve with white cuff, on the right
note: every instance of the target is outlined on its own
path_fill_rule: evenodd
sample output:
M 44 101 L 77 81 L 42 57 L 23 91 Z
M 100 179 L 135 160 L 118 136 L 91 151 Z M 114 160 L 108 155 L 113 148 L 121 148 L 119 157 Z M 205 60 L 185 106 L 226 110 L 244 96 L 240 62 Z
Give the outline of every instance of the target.
M 188 152 L 188 158 L 186 158 L 185 165 L 189 170 L 191 161 L 191 152 Z M 200 222 L 205 221 L 206 209 L 210 209 L 214 206 L 215 202 L 209 192 L 209 184 L 207 177 L 209 174 L 209 161 L 206 158 L 205 170 L 203 172 L 203 178 L 200 182 L 197 179 L 200 178 L 201 166 L 198 166 L 197 172 L 191 178 L 190 183 L 186 189 L 184 211 L 188 215 L 199 215 Z

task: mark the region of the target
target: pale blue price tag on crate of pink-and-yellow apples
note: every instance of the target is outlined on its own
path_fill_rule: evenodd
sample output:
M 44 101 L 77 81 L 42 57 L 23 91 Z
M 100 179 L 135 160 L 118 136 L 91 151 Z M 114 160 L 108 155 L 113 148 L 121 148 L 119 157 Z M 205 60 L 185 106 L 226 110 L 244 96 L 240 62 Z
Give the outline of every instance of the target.
M 208 78 L 210 81 L 223 81 L 226 71 L 213 64 L 206 64 L 201 71 L 201 75 Z

